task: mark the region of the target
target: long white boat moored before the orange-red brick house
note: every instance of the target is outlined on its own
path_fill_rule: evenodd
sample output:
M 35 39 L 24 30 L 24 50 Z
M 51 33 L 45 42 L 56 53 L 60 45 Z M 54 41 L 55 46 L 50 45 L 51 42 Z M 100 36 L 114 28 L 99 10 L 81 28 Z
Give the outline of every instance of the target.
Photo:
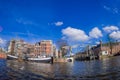
M 28 58 L 28 61 L 50 63 L 52 61 L 52 58 L 51 57 Z

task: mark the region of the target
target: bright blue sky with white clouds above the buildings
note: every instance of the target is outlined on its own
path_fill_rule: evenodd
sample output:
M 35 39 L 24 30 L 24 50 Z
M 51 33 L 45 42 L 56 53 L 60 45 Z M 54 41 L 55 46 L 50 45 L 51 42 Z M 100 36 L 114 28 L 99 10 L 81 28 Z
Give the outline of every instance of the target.
M 96 44 L 120 39 L 120 0 L 0 0 L 0 42 L 65 39 Z M 118 36 L 116 36 L 118 35 Z

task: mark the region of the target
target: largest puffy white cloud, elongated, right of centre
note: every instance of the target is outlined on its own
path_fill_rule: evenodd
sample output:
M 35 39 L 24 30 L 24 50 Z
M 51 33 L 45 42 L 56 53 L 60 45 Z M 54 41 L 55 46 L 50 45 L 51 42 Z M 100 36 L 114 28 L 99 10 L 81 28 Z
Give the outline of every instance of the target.
M 71 41 L 87 41 L 89 37 L 85 34 L 83 30 L 67 27 L 62 30 L 63 37 Z

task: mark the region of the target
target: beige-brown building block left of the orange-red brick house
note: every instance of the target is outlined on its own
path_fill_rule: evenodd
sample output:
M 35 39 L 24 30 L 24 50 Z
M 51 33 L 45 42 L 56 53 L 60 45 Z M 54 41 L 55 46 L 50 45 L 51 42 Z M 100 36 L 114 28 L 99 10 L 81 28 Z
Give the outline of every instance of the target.
M 34 45 L 28 44 L 24 40 L 11 40 L 8 46 L 8 53 L 12 55 L 32 52 L 34 52 Z

